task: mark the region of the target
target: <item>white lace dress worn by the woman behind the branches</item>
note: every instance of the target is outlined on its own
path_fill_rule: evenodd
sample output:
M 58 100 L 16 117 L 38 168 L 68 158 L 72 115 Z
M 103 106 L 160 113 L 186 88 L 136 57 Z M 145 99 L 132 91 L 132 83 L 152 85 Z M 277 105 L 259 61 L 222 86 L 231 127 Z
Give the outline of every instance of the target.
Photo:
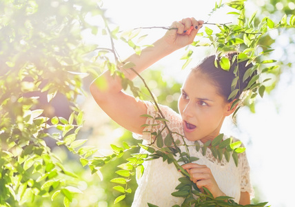
M 157 117 L 157 111 L 153 104 L 150 102 L 146 102 L 145 104 L 148 107 L 147 114 L 152 115 L 152 117 Z M 160 106 L 160 108 L 165 119 L 169 120 L 167 125 L 170 130 L 184 135 L 181 116 L 167 106 Z M 155 124 L 153 122 L 154 119 L 148 118 L 146 124 Z M 158 121 L 156 124 L 159 125 L 146 127 L 143 130 L 142 136 L 134 134 L 134 138 L 143 139 L 143 144 L 150 144 L 151 135 L 150 132 L 146 131 L 157 132 L 164 127 L 162 121 Z M 166 135 L 167 130 L 163 130 L 162 136 L 166 137 Z M 181 136 L 174 135 L 174 140 L 176 141 L 177 139 L 183 144 Z M 194 141 L 189 141 L 187 139 L 185 139 L 185 143 L 187 145 L 194 145 Z M 182 152 L 185 152 L 184 146 L 179 146 L 179 148 L 181 148 Z M 199 160 L 194 161 L 194 163 L 206 165 L 210 168 L 214 179 L 225 195 L 234 197 L 234 201 L 237 203 L 240 199 L 241 192 L 249 192 L 250 195 L 253 196 L 253 188 L 250 184 L 250 166 L 247 162 L 245 152 L 238 154 L 238 167 L 236 167 L 232 158 L 230 162 L 227 162 L 223 156 L 223 159 L 219 161 L 214 158 L 211 150 L 207 150 L 205 156 L 202 155 L 202 150 L 198 152 L 194 147 L 189 147 L 189 151 L 191 157 L 199 158 Z M 171 193 L 176 191 L 176 186 L 180 184 L 178 180 L 179 177 L 183 177 L 181 172 L 176 170 L 174 164 L 168 164 L 167 161 L 163 161 L 163 159 L 159 158 L 145 161 L 144 167 L 143 176 L 138 180 L 139 187 L 136 189 L 132 207 L 148 206 L 148 203 L 159 207 L 171 207 L 176 204 L 181 206 L 184 199 L 171 195 Z

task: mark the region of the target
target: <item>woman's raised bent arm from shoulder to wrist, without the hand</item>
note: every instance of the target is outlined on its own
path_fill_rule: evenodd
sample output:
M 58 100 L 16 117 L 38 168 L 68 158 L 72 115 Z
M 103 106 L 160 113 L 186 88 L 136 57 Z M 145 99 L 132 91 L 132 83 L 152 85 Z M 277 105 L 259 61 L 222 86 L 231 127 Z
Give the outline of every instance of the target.
M 169 55 L 173 50 L 167 47 L 163 39 L 154 43 L 154 47 L 145 48 L 141 55 L 132 55 L 126 62 L 135 64 L 133 67 L 136 72 L 141 73 L 159 59 Z M 130 70 L 123 70 L 125 78 L 130 80 L 136 77 L 136 74 Z M 101 86 L 104 83 L 104 86 Z M 143 101 L 136 101 L 134 97 L 125 94 L 122 91 L 121 77 L 112 77 L 110 71 L 106 71 L 95 79 L 90 92 L 96 103 L 105 111 L 110 118 L 127 130 L 141 134 L 146 118 L 140 117 L 146 113 L 146 106 Z

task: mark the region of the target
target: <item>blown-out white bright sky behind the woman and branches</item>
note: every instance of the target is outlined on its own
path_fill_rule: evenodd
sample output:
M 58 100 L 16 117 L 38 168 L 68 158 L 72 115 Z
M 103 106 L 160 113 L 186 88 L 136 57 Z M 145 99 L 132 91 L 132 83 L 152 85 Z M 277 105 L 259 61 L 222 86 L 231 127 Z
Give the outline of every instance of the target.
M 170 26 L 172 21 L 185 17 L 207 21 L 207 14 L 215 5 L 213 0 L 106 0 L 103 3 L 103 8 L 108 10 L 108 17 L 112 17 L 114 24 L 120 26 L 121 30 Z M 247 9 L 250 10 L 251 6 Z M 232 21 L 230 15 L 225 15 L 227 12 L 222 10 L 214 14 L 210 22 Z M 150 30 L 148 40 L 152 43 L 162 34 L 163 30 Z M 279 52 L 280 48 L 278 48 Z M 183 54 L 184 50 L 174 52 L 156 65 L 169 69 L 164 70 L 164 74 L 170 72 L 170 75 L 176 76 L 177 74 L 178 79 L 183 79 L 185 72 L 179 75 L 181 73 L 179 68 L 184 63 L 179 59 Z M 124 54 L 121 55 L 124 56 Z M 276 55 L 274 58 L 280 57 L 276 53 L 274 55 Z M 294 73 L 294 68 L 283 73 L 276 90 L 272 91 L 271 95 L 258 99 L 256 114 L 243 108 L 238 115 L 238 129 L 231 124 L 225 124 L 223 128 L 225 132 L 236 135 L 245 143 L 247 157 L 252 168 L 252 184 L 258 188 L 260 201 L 269 201 L 269 205 L 276 207 L 294 206 L 292 192 L 288 190 L 295 186 L 295 168 L 292 166 L 294 161 L 291 161 L 294 157 L 295 144 L 295 137 L 292 133 L 295 124 L 295 81 L 292 81 L 295 77 Z

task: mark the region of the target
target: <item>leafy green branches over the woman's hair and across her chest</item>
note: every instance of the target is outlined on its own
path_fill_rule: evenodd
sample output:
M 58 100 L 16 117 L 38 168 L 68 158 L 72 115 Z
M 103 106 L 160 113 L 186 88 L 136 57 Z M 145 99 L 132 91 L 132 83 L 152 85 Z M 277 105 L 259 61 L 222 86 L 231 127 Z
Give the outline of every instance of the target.
M 263 93 L 265 92 L 265 86 L 263 85 L 263 83 L 265 83 L 265 81 L 269 80 L 269 79 L 262 80 L 262 78 L 261 78 L 263 72 L 269 72 L 269 70 L 265 69 L 265 67 L 263 67 L 263 66 L 264 66 L 264 64 L 267 64 L 267 63 L 275 63 L 276 60 L 273 60 L 273 59 L 270 59 L 270 60 L 266 59 L 265 60 L 264 59 L 263 56 L 269 52 L 272 52 L 272 49 L 269 48 L 269 46 L 261 46 L 260 40 L 263 37 L 263 35 L 265 35 L 269 30 L 274 30 L 274 29 L 278 29 L 278 28 L 294 28 L 295 25 L 292 21 L 292 19 L 294 18 L 294 15 L 292 15 L 290 17 L 289 24 L 287 23 L 287 16 L 285 15 L 285 16 L 283 16 L 281 21 L 277 24 L 275 24 L 274 21 L 269 19 L 269 17 L 265 17 L 261 21 L 261 23 L 256 25 L 256 24 L 254 24 L 254 18 L 256 16 L 256 12 L 254 12 L 254 14 L 252 14 L 252 16 L 249 19 L 247 19 L 245 17 L 245 1 L 244 0 L 229 1 L 228 3 L 226 3 L 226 5 L 236 9 L 236 12 L 230 12 L 229 14 L 236 15 L 237 19 L 238 19 L 238 23 L 232 24 L 232 25 L 230 25 L 230 24 L 220 25 L 220 24 L 216 23 L 216 26 L 220 30 L 217 33 L 213 33 L 214 30 L 212 30 L 208 27 L 205 27 L 205 34 L 201 33 L 198 36 L 203 39 L 209 39 L 209 43 L 203 43 L 201 40 L 197 40 L 197 41 L 194 41 L 194 43 L 192 43 L 192 46 L 194 46 L 194 47 L 212 46 L 216 50 L 217 57 L 221 57 L 221 61 L 219 61 L 219 62 L 216 61 L 216 65 L 219 64 L 221 66 L 221 68 L 223 68 L 223 70 L 229 70 L 230 66 L 232 64 L 231 61 L 229 59 L 227 59 L 227 57 L 225 57 L 224 55 L 228 51 L 239 51 L 238 55 L 236 55 L 236 57 L 234 57 L 234 59 L 236 59 L 238 62 L 247 60 L 248 61 L 247 64 L 252 63 L 253 67 L 250 68 L 245 73 L 243 80 L 241 80 L 238 77 L 238 68 L 236 68 L 234 70 L 234 74 L 236 75 L 236 78 L 232 81 L 232 93 L 230 94 L 228 99 L 232 99 L 233 97 L 235 97 L 238 92 L 240 94 L 243 92 L 243 91 L 240 91 L 239 87 L 237 87 L 237 86 L 239 86 L 242 81 L 245 81 L 245 79 L 250 77 L 254 72 L 256 72 L 257 75 L 254 75 L 252 77 L 252 79 L 247 84 L 247 87 L 245 88 L 245 90 L 250 90 L 250 96 L 249 96 L 250 99 L 254 99 L 256 97 L 256 95 L 258 95 L 258 94 L 261 97 L 263 97 Z M 221 8 L 221 6 L 225 6 L 225 5 L 223 5 L 222 3 L 216 4 L 213 12 L 215 10 L 217 10 L 218 8 Z M 108 27 L 108 25 L 106 25 L 106 27 Z M 131 31 L 129 33 L 129 35 L 130 34 L 134 34 L 133 37 L 135 37 L 137 35 L 137 33 L 134 31 Z M 130 40 L 128 40 L 126 42 L 128 42 L 129 46 L 131 46 L 134 49 L 136 54 L 140 54 L 140 47 L 139 46 L 136 47 L 136 45 L 134 45 L 133 43 L 132 43 L 132 45 L 130 45 Z M 259 53 L 257 52 L 258 46 L 263 47 L 263 52 L 259 52 Z M 114 47 L 114 44 L 112 44 L 112 47 Z M 113 50 L 114 50 L 114 48 L 113 48 Z M 187 66 L 187 64 L 190 62 L 192 52 L 193 52 L 192 50 L 189 50 L 181 58 L 181 59 L 186 59 L 186 62 L 184 64 L 183 68 L 185 66 Z M 116 54 L 114 54 L 114 57 L 117 61 L 119 60 L 119 57 L 117 57 Z M 166 121 L 165 117 L 163 117 L 163 115 L 161 115 L 161 110 L 159 109 L 159 106 L 157 105 L 156 98 L 152 95 L 152 92 L 148 88 L 148 84 L 145 83 L 145 80 L 143 79 L 143 77 L 141 77 L 141 75 L 137 74 L 137 72 L 132 69 L 132 63 L 124 63 L 123 62 L 122 64 L 123 64 L 123 66 L 122 66 L 123 68 L 130 68 L 133 72 L 135 72 L 136 75 L 138 75 L 141 78 L 141 80 L 143 81 L 143 84 L 148 89 L 148 92 L 150 92 L 150 95 L 154 101 L 155 107 L 159 110 L 159 117 L 153 117 L 154 120 L 163 119 L 162 121 L 165 123 L 165 121 Z M 127 88 L 127 86 L 129 85 L 131 90 L 133 88 L 133 90 L 132 90 L 133 95 L 135 97 L 141 98 L 141 96 L 139 96 L 138 90 L 136 90 L 136 88 L 134 88 L 132 83 L 123 81 L 123 84 L 124 84 L 123 88 Z M 241 100 L 238 99 L 238 100 L 234 101 L 234 104 L 232 107 L 236 106 L 236 104 L 239 101 L 241 101 Z M 234 112 L 234 115 L 236 115 L 238 108 Z M 143 115 L 143 116 L 149 117 L 149 115 Z M 152 124 L 151 126 L 153 127 L 155 125 L 156 124 Z M 147 126 L 147 125 L 145 124 L 143 127 L 145 127 L 145 126 Z M 167 128 L 167 125 L 165 125 L 165 128 Z M 139 146 L 141 146 L 141 148 L 143 148 L 144 150 L 149 152 L 149 154 L 143 154 L 144 157 L 139 156 L 141 154 L 137 154 L 136 158 L 132 157 L 131 159 L 128 159 L 128 161 L 129 161 L 128 165 L 132 166 L 132 167 L 130 166 L 130 170 L 132 170 L 134 168 L 134 165 L 138 164 L 138 162 L 139 162 L 139 164 L 142 164 L 143 161 L 148 161 L 150 159 L 159 159 L 160 157 L 162 157 L 163 161 L 167 161 L 168 164 L 173 163 L 176 166 L 176 169 L 180 169 L 181 172 L 183 173 L 183 175 L 186 176 L 186 177 L 181 178 L 181 180 L 183 180 L 183 182 L 181 181 L 181 186 L 176 187 L 176 190 L 178 190 L 178 191 L 176 191 L 175 193 L 172 193 L 172 195 L 176 196 L 176 197 L 185 197 L 185 201 L 183 203 L 183 206 L 191 206 L 192 204 L 194 204 L 195 206 L 198 206 L 198 204 L 200 204 L 202 206 L 204 206 L 206 204 L 208 206 L 212 206 L 212 205 L 214 205 L 214 206 L 236 206 L 236 205 L 238 205 L 238 204 L 234 203 L 234 201 L 231 200 L 229 197 L 222 197 L 222 198 L 214 199 L 214 197 L 212 197 L 212 195 L 210 194 L 209 190 L 205 189 L 205 195 L 203 195 L 201 193 L 201 191 L 196 188 L 196 186 L 194 187 L 194 184 L 189 179 L 190 176 L 187 174 L 187 172 L 185 172 L 185 170 L 183 170 L 181 168 L 181 166 L 178 164 L 178 162 L 183 161 L 183 162 L 187 163 L 187 162 L 196 161 L 198 158 L 197 157 L 190 157 L 189 152 L 181 152 L 180 148 L 178 147 L 178 144 L 176 144 L 174 139 L 172 138 L 173 132 L 170 131 L 169 128 L 167 128 L 167 130 L 170 132 L 170 134 L 165 138 L 162 137 L 161 132 L 157 132 L 157 133 L 152 132 L 152 136 L 154 136 L 155 139 L 150 146 L 143 146 L 143 145 L 139 144 Z M 232 156 L 235 164 L 238 165 L 237 153 L 244 152 L 245 148 L 239 147 L 241 145 L 241 142 L 239 142 L 239 141 L 236 143 L 232 143 L 232 141 L 230 139 L 226 139 L 225 141 L 222 141 L 222 138 L 223 138 L 222 135 L 220 137 L 218 136 L 214 139 L 214 141 L 212 141 L 212 143 L 211 142 L 205 143 L 203 146 L 199 146 L 198 144 L 196 144 L 196 150 L 200 150 L 200 148 L 201 148 L 202 152 L 205 153 L 207 148 L 210 148 L 210 150 L 212 150 L 212 155 L 214 155 L 215 158 L 222 159 L 222 157 L 224 155 L 225 158 L 227 159 L 227 161 L 229 161 L 230 157 Z M 220 146 L 219 146 L 219 144 L 220 144 Z M 154 147 L 156 147 L 156 148 L 154 148 Z M 187 148 L 187 146 L 186 146 L 186 148 Z M 224 150 L 224 149 L 226 149 L 226 150 Z M 231 156 L 230 156 L 230 152 L 232 152 Z M 179 155 L 179 157 L 180 157 L 179 159 L 175 159 L 176 154 Z M 132 172 L 128 173 L 128 175 L 132 175 Z M 129 180 L 129 177 L 128 177 L 128 179 L 124 179 L 124 178 L 115 179 L 115 181 L 119 181 L 120 184 L 124 184 L 124 185 L 128 184 L 128 180 Z M 185 185 L 185 184 L 187 184 L 187 185 Z M 125 187 L 125 189 L 126 188 L 127 187 Z M 124 194 L 120 195 L 115 200 L 115 202 L 120 201 L 121 199 L 123 199 L 123 197 L 125 197 L 125 192 L 123 192 L 123 190 L 122 190 L 123 188 L 118 187 L 118 189 L 121 189 L 121 191 L 122 191 L 121 193 L 124 193 Z M 185 190 L 183 190 L 183 189 L 185 189 Z M 193 194 L 197 195 L 198 199 L 194 199 Z M 227 199 L 227 202 L 224 201 L 225 199 Z M 265 206 L 266 204 L 267 203 L 257 204 L 256 206 Z M 154 204 L 148 204 L 148 205 L 154 206 Z

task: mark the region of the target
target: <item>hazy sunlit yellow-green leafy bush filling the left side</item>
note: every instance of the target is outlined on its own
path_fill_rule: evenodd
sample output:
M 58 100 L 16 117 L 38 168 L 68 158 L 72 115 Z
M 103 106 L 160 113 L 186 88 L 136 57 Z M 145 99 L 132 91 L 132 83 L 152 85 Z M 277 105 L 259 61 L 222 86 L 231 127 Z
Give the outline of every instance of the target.
M 83 16 L 98 14 L 89 10 L 93 5 L 0 3 L 0 206 L 59 195 L 69 206 L 73 195 L 81 193 L 75 184 L 79 177 L 63 166 L 48 144 L 55 141 L 84 155 L 79 146 L 85 140 L 75 140 L 83 126 L 77 97 L 83 94 L 81 72 L 90 64 L 83 55 L 92 48 L 81 44 L 81 31 L 89 27 Z M 54 116 L 50 104 L 57 95 L 70 102 L 69 117 Z

